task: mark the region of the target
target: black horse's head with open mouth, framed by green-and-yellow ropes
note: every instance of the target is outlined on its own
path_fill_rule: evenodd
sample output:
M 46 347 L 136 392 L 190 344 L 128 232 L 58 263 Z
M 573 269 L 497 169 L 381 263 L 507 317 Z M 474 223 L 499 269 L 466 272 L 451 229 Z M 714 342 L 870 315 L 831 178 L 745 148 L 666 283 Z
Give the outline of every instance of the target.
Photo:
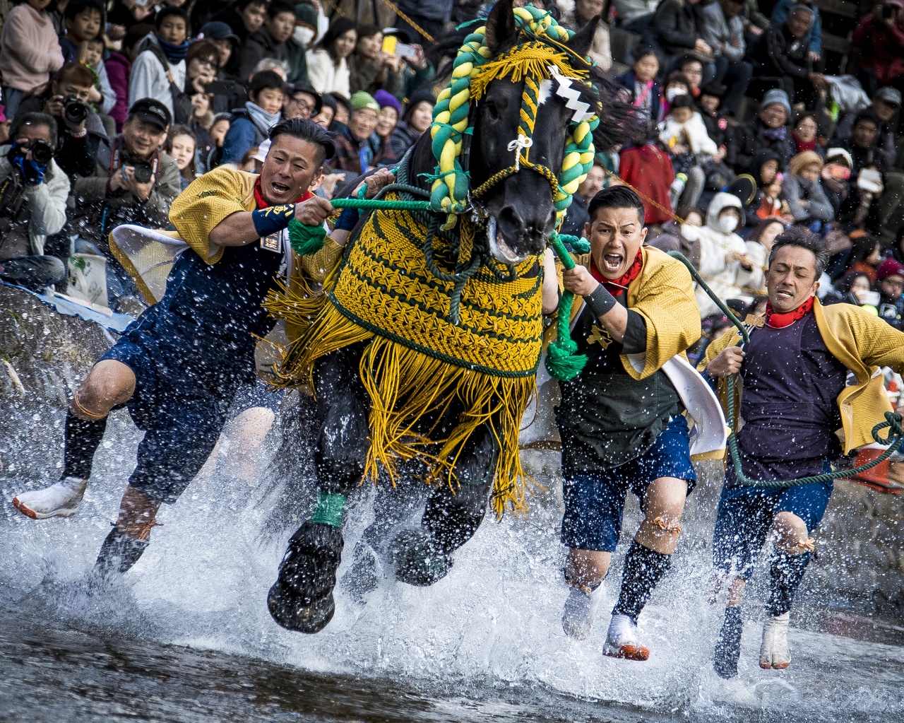
M 581 32 L 573 35 L 568 48 L 583 58 L 597 27 L 591 22 Z M 493 56 L 513 48 L 518 42 L 518 30 L 514 22 L 512 2 L 500 0 L 494 5 L 486 21 L 486 45 Z M 512 81 L 501 77 L 490 81 L 485 94 L 477 100 L 474 139 L 470 154 L 472 189 L 480 188 L 506 169 L 511 171 L 516 158 L 523 154 L 522 106 L 525 80 Z M 486 186 L 478 202 L 489 214 L 487 233 L 490 253 L 503 263 L 521 262 L 543 251 L 543 247 L 555 227 L 556 212 L 550 174 L 559 176 L 562 155 L 573 109 L 566 107 L 566 99 L 556 94 L 558 84 L 554 80 L 537 79 L 537 112 L 531 144 L 527 152 L 530 165 L 518 164 L 518 171 Z M 575 85 L 577 90 L 590 93 L 589 85 Z M 598 109 L 598 99 L 582 98 Z M 496 176 L 499 178 L 499 176 Z

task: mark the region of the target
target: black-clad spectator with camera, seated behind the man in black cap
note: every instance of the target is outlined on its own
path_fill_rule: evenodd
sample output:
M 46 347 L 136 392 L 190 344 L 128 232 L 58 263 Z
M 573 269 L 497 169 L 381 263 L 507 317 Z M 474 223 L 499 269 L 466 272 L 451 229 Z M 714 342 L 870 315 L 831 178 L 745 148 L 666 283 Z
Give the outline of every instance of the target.
M 107 130 L 88 105 L 93 76 L 79 62 L 62 66 L 44 89 L 38 89 L 19 106 L 18 117 L 42 112 L 56 123 L 54 159 L 74 184 L 79 176 L 93 176 L 99 147 L 109 147 Z

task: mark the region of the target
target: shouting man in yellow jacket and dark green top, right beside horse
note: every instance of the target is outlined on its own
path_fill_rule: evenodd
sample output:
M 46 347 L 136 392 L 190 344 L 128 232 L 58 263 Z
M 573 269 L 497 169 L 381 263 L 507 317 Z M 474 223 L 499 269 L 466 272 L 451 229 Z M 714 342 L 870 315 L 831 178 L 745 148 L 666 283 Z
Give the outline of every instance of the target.
M 645 661 L 637 618 L 671 565 L 684 500 L 696 482 L 684 405 L 663 366 L 700 338 L 691 276 L 679 262 L 643 246 L 644 205 L 626 186 L 590 201 L 590 253 L 563 271 L 562 286 L 583 298 L 572 338 L 587 366 L 560 382 L 556 423 L 562 440 L 571 590 L 562 627 L 579 639 L 590 631 L 630 490 L 644 521 L 625 560 L 604 654 Z M 544 309 L 557 303 L 546 263 Z

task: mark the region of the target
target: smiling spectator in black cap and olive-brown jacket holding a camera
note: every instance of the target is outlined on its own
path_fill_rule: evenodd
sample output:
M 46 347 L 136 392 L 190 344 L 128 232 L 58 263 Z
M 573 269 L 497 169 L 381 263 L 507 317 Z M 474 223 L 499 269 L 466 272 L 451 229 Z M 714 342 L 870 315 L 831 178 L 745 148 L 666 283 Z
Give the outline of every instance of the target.
M 171 122 L 160 100 L 137 100 L 122 134 L 111 147 L 100 147 L 94 174 L 76 182 L 76 230 L 101 251 L 108 253 L 113 226 L 167 224 L 170 205 L 181 191 L 175 161 L 160 152 Z

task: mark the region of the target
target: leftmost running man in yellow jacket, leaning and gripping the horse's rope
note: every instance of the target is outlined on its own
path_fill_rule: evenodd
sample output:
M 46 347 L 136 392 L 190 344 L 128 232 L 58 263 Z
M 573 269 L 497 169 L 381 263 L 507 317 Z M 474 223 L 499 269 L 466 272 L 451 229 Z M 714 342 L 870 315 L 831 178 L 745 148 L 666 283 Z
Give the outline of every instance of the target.
M 311 193 L 333 142 L 309 120 L 270 130 L 260 176 L 220 167 L 193 181 L 170 220 L 189 249 L 174 263 L 163 299 L 127 328 L 76 392 L 65 425 L 62 479 L 18 495 L 31 518 L 75 514 L 111 409 L 127 405 L 146 430 L 116 526 L 100 549 L 102 574 L 123 573 L 141 557 L 161 503 L 172 503 L 201 469 L 226 422 L 232 398 L 254 380 L 255 337 L 274 319 L 261 308 L 290 264 L 323 281 L 343 252 L 355 218 L 337 225 L 323 249 L 292 259 L 287 226 L 320 225 L 333 206 Z M 368 179 L 374 195 L 388 172 Z M 349 214 L 346 214 L 349 215 Z M 352 214 L 353 215 L 353 214 Z

